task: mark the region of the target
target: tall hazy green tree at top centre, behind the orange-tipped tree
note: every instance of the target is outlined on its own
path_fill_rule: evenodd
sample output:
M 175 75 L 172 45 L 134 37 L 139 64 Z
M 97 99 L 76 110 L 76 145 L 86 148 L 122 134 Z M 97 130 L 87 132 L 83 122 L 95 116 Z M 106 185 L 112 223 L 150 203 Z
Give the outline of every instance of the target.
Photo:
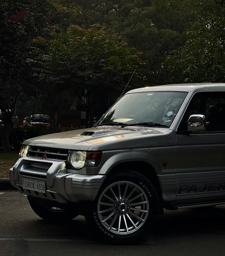
M 76 5 L 73 24 L 88 28 L 93 23 L 107 27 L 109 33 L 122 35 L 125 41 L 144 52 L 151 85 L 164 83 L 162 62 L 173 50 L 183 46 L 185 29 L 197 19 L 196 0 L 61 0 Z

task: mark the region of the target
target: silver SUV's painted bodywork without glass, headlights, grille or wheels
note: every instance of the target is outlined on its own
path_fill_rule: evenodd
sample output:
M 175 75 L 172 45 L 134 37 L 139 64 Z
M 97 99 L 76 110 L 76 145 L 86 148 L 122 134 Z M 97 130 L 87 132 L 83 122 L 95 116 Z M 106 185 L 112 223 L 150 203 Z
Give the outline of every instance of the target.
M 170 128 L 100 126 L 91 129 L 28 139 L 26 145 L 69 150 L 103 151 L 101 164 L 96 168 L 67 170 L 63 161 L 31 157 L 19 159 L 10 169 L 12 185 L 21 191 L 22 177 L 34 171 L 29 161 L 52 164 L 46 173 L 46 195 L 60 203 L 93 201 L 107 175 L 119 164 L 140 162 L 149 165 L 145 172 L 155 172 L 162 192 L 164 206 L 178 208 L 225 202 L 225 133 L 179 135 L 177 127 L 196 92 L 225 91 L 225 84 L 182 84 L 146 87 L 143 91 L 186 91 L 188 95 Z M 91 136 L 81 135 L 94 132 Z M 167 166 L 163 166 L 163 162 Z M 145 165 L 146 166 L 146 165 Z M 30 168 L 30 169 L 29 169 Z M 22 171 L 22 174 L 19 174 Z M 31 179 L 31 177 L 30 177 Z M 35 180 L 42 180 L 33 178 Z M 24 191 L 29 194 L 28 191 Z M 54 199 L 51 195 L 55 195 Z M 31 193 L 34 197 L 37 195 Z M 175 209 L 174 208 L 174 209 Z

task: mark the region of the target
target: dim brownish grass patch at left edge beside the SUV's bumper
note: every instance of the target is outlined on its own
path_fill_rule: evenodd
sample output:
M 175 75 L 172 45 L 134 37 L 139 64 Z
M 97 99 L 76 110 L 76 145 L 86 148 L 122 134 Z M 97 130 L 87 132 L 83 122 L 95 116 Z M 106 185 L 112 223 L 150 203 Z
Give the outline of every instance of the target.
M 9 169 L 13 167 L 18 157 L 18 151 L 9 153 L 0 151 L 0 178 L 9 178 Z

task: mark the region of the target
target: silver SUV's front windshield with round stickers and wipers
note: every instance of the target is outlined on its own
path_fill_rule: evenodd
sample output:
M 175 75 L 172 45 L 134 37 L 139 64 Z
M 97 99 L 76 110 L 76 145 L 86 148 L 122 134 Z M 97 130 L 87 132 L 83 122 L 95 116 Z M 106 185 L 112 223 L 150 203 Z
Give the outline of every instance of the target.
M 125 94 L 98 124 L 154 122 L 171 126 L 188 92 L 160 91 Z

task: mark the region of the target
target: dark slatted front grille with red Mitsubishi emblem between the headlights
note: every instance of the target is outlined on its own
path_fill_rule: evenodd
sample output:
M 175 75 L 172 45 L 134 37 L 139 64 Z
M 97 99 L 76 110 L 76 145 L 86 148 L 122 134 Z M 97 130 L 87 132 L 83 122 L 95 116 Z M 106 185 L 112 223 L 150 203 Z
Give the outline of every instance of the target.
M 35 157 L 35 158 L 42 158 L 46 152 L 46 159 L 49 160 L 60 160 L 65 161 L 67 160 L 67 155 L 69 153 L 68 149 L 61 149 L 61 148 L 47 148 L 47 147 L 37 147 L 37 146 L 30 146 L 27 152 L 27 156 Z

